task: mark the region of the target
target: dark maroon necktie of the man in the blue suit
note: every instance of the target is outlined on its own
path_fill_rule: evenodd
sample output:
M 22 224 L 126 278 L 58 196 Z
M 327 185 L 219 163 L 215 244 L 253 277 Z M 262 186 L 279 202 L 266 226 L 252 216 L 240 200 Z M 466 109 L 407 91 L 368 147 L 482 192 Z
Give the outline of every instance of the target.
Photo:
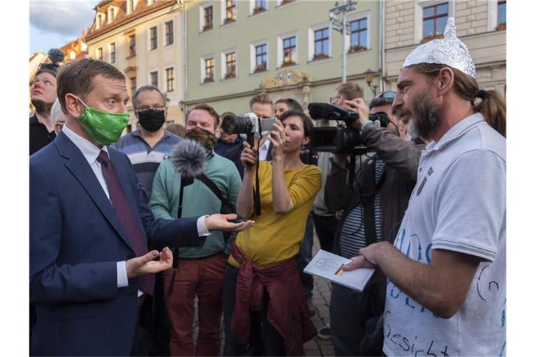
M 126 200 L 125 192 L 121 187 L 119 178 L 117 177 L 106 151 L 101 150 L 101 152 L 98 153 L 97 161 L 101 164 L 108 193 L 110 193 L 110 199 L 112 200 L 115 212 L 117 213 L 117 218 L 119 218 L 119 222 L 121 222 L 121 227 L 123 227 L 126 232 L 128 241 L 131 243 L 131 247 L 134 250 L 136 257 L 141 257 L 148 252 L 147 244 L 140 233 L 140 229 L 137 227 L 132 208 Z M 153 294 L 153 274 L 142 275 L 137 278 L 137 281 L 140 284 L 140 290 L 147 294 Z

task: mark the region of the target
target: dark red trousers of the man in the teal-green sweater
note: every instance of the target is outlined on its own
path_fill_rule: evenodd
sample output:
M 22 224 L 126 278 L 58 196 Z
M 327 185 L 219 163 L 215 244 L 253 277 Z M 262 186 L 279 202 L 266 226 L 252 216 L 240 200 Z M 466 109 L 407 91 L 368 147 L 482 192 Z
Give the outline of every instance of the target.
M 222 313 L 222 284 L 228 255 L 179 259 L 164 272 L 165 304 L 171 321 L 171 356 L 218 356 Z M 193 343 L 194 300 L 198 296 L 199 336 Z

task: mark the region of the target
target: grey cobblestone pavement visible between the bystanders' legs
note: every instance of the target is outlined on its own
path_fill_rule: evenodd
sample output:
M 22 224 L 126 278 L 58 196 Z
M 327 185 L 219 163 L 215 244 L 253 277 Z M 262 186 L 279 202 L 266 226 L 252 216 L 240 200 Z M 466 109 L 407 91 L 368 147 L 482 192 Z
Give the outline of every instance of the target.
M 314 235 L 313 243 L 313 257 L 320 249 L 320 243 L 318 243 L 318 237 L 316 233 Z M 329 324 L 329 298 L 332 295 L 332 285 L 325 279 L 314 278 L 314 290 L 313 290 L 313 304 L 315 305 L 316 314 L 311 317 L 313 324 L 315 324 L 317 331 L 324 327 L 325 324 Z M 198 306 L 197 300 L 195 301 L 195 321 L 194 321 L 194 341 L 197 340 L 199 328 L 198 328 Z M 223 331 L 223 318 L 221 321 L 221 352 L 223 352 L 223 339 L 225 333 Z M 304 344 L 305 356 L 334 356 L 334 349 L 332 340 L 320 340 L 318 337 L 308 341 Z M 221 355 L 221 354 L 220 354 Z

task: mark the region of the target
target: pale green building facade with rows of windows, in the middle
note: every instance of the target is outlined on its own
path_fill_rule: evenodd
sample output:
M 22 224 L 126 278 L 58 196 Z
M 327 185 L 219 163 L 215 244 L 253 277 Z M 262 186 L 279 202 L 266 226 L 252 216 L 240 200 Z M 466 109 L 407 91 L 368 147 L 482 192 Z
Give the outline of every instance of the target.
M 342 36 L 329 10 L 336 1 L 209 0 L 186 3 L 186 109 L 248 112 L 251 96 L 329 102 L 341 82 Z M 339 1 L 341 3 L 341 1 Z M 380 2 L 347 13 L 347 80 L 370 99 L 364 73 L 379 73 Z M 377 77 L 379 81 L 379 75 Z M 377 82 L 376 84 L 378 84 Z

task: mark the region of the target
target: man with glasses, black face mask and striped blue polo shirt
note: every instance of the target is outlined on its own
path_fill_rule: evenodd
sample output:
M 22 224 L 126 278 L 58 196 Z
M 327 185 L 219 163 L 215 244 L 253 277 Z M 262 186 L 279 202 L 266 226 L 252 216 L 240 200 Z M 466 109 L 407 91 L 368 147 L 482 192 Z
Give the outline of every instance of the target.
M 154 86 L 138 88 L 132 96 L 132 105 L 140 127 L 121 137 L 112 147 L 125 153 L 131 160 L 137 179 L 147 193 L 149 201 L 156 170 L 173 146 L 181 141 L 181 137 L 164 128 L 167 108 L 165 96 L 158 88 Z M 154 317 L 151 318 L 153 314 Z M 156 274 L 154 295 L 145 299 L 140 319 L 145 330 L 151 332 L 150 347 L 141 348 L 149 349 L 151 356 L 169 356 L 170 323 L 163 297 L 162 273 Z M 147 341 L 144 343 L 149 344 Z

